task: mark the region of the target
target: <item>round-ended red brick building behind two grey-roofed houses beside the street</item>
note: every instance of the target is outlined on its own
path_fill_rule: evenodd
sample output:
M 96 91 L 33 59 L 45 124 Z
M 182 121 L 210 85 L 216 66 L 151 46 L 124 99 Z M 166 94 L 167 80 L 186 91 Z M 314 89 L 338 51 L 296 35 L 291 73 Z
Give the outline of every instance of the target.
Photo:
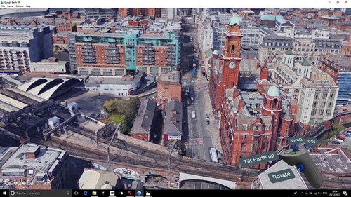
M 180 83 L 180 72 L 173 70 L 166 74 L 161 74 L 157 80 L 157 104 L 162 105 L 162 109 L 169 100 L 182 101 L 182 83 Z

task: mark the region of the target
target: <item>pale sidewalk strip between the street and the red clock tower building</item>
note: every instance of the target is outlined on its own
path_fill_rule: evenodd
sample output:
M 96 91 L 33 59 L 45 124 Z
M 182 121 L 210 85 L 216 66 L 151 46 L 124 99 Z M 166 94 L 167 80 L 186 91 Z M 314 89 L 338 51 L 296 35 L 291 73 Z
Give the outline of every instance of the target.
M 218 123 L 216 123 L 216 120 L 212 114 L 212 106 L 211 106 L 211 100 L 210 100 L 210 95 L 208 93 L 208 90 L 204 92 L 204 112 L 208 114 L 208 116 L 210 116 L 210 124 L 206 128 L 211 133 L 212 145 L 213 147 L 216 147 L 217 151 L 223 154 L 222 146 L 220 144 Z

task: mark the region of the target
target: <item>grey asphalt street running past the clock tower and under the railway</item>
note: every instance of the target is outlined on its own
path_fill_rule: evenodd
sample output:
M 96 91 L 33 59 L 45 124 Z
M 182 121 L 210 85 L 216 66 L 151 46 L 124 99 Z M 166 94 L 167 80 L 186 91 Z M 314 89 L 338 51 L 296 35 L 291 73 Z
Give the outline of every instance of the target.
M 192 35 L 193 40 L 190 40 Z M 206 84 L 197 83 L 197 79 L 192 77 L 192 60 L 197 53 L 194 53 L 194 47 L 197 48 L 196 27 L 192 20 L 185 19 L 183 25 L 183 58 L 180 70 L 182 71 L 183 90 L 185 87 L 192 89 L 190 92 L 194 95 L 194 100 L 190 94 L 185 95 L 183 91 L 184 119 L 183 119 L 183 142 L 187 146 L 187 156 L 192 158 L 201 158 L 211 161 L 209 156 L 209 147 L 212 147 L 211 133 L 206 129 L 206 114 L 204 113 L 204 86 Z M 199 62 L 199 59 L 197 59 Z M 199 68 L 198 68 L 199 69 Z M 194 80 L 194 83 L 191 81 Z M 201 87 L 201 90 L 198 88 Z M 191 117 L 191 111 L 195 111 L 195 118 Z M 182 189 L 219 189 L 217 184 L 208 182 L 185 182 Z

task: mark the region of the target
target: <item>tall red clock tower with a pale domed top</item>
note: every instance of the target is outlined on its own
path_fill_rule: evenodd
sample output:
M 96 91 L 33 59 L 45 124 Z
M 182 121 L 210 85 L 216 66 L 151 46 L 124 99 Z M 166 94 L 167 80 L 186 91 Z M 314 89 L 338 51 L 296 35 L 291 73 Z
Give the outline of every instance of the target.
M 230 18 L 225 31 L 225 46 L 221 59 L 223 61 L 222 86 L 223 90 L 238 86 L 240 58 L 240 20 L 236 16 Z

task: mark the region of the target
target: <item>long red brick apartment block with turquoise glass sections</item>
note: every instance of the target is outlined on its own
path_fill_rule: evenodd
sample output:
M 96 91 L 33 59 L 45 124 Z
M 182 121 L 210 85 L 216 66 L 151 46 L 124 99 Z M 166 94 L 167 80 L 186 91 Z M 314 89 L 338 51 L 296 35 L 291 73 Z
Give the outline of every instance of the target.
M 71 67 L 78 74 L 121 76 L 142 70 L 160 75 L 178 65 L 178 38 L 169 32 L 141 34 L 126 30 L 108 34 L 69 34 Z

